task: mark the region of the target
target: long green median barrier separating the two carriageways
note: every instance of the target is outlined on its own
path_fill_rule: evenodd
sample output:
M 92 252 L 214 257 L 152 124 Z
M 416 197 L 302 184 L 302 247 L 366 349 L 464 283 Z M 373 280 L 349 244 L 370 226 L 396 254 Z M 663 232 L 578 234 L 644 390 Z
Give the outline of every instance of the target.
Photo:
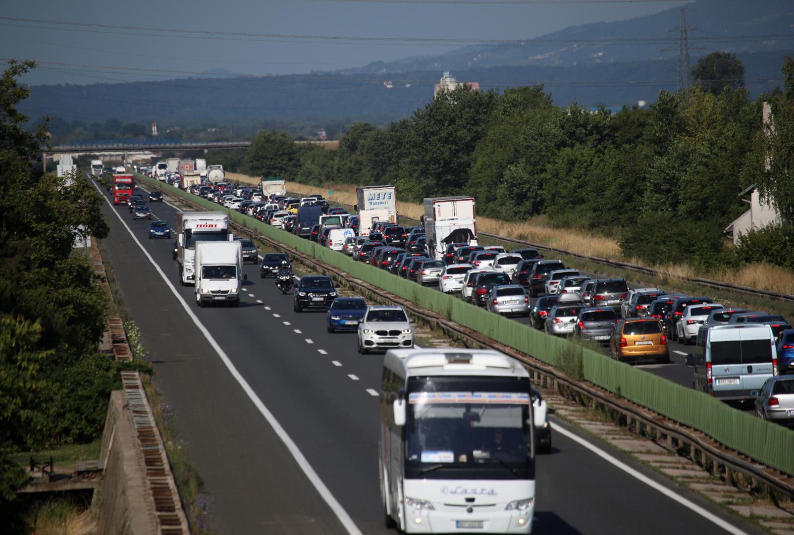
M 703 392 L 682 387 L 668 379 L 612 360 L 592 349 L 580 348 L 564 338 L 549 336 L 530 325 L 503 318 L 459 298 L 422 287 L 380 268 L 362 264 L 341 252 L 332 251 L 313 241 L 276 229 L 236 210 L 226 210 L 187 191 L 150 179 L 145 175 L 136 175 L 141 182 L 156 185 L 163 191 L 185 198 L 198 206 L 205 207 L 206 210 L 225 211 L 238 225 L 314 256 L 357 279 L 542 360 L 568 375 L 576 375 L 567 367 L 571 360 L 581 359 L 583 375 L 574 377 L 575 379 L 585 379 L 615 395 L 663 414 L 673 421 L 706 433 L 728 448 L 742 452 L 769 467 L 794 475 L 794 432 L 782 425 L 755 418 Z

